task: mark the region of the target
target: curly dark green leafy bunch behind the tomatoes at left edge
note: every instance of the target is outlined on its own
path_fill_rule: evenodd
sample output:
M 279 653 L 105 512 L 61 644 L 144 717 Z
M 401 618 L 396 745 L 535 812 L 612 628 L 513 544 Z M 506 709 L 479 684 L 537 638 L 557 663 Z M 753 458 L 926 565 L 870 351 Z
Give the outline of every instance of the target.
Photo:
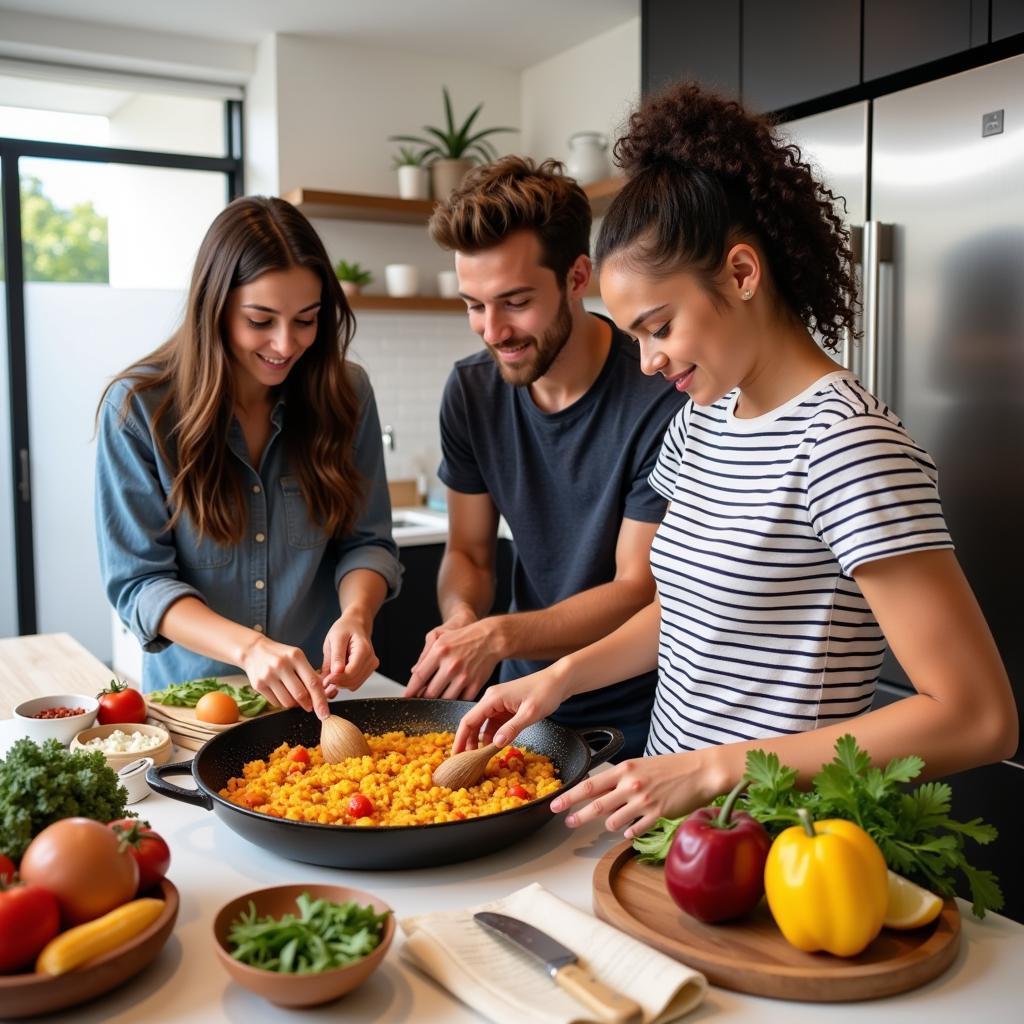
M 128 791 L 100 751 L 67 751 L 55 739 L 19 739 L 0 761 L 0 853 L 15 862 L 33 837 L 61 818 L 114 821 Z

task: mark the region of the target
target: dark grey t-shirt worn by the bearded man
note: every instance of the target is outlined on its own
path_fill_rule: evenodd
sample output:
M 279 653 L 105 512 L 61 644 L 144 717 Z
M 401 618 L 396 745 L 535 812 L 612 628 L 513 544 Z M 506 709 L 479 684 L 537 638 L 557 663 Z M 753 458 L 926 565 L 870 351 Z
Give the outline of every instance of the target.
M 605 323 L 612 340 L 601 373 L 560 412 L 542 412 L 528 388 L 506 384 L 486 351 L 456 362 L 444 388 L 438 475 L 461 494 L 489 494 L 511 527 L 513 611 L 608 583 L 622 520 L 660 522 L 665 514 L 647 477 L 685 399 L 662 377 L 644 376 L 634 343 Z M 549 664 L 510 658 L 501 678 Z M 655 681 L 650 672 L 581 693 L 552 717 L 573 728 L 632 726 L 645 738 Z

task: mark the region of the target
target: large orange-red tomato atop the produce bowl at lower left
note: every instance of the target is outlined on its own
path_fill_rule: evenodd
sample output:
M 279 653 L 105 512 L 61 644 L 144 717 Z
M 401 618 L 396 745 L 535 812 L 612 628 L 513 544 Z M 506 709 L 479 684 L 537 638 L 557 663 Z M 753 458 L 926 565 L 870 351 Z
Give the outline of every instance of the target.
M 30 844 L 18 868 L 23 881 L 48 889 L 66 925 L 81 925 L 135 898 L 138 865 L 117 837 L 91 818 L 63 818 Z

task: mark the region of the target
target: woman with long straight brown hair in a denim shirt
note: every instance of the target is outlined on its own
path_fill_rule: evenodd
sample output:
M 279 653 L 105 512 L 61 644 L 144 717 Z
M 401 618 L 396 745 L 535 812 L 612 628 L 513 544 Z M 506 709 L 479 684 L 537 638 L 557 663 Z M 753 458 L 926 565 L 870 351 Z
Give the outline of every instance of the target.
M 323 718 L 377 667 L 401 567 L 353 330 L 308 220 L 239 199 L 203 240 L 181 326 L 104 391 L 100 568 L 144 690 L 241 669 Z

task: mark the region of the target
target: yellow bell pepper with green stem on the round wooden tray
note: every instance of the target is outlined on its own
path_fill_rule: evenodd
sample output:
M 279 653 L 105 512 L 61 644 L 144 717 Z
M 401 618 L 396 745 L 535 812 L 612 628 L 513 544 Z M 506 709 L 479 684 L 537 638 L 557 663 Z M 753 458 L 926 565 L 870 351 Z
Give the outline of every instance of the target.
M 765 895 L 782 935 L 798 949 L 856 956 L 882 930 L 889 873 L 874 840 L 852 821 L 786 828 L 765 864 Z

